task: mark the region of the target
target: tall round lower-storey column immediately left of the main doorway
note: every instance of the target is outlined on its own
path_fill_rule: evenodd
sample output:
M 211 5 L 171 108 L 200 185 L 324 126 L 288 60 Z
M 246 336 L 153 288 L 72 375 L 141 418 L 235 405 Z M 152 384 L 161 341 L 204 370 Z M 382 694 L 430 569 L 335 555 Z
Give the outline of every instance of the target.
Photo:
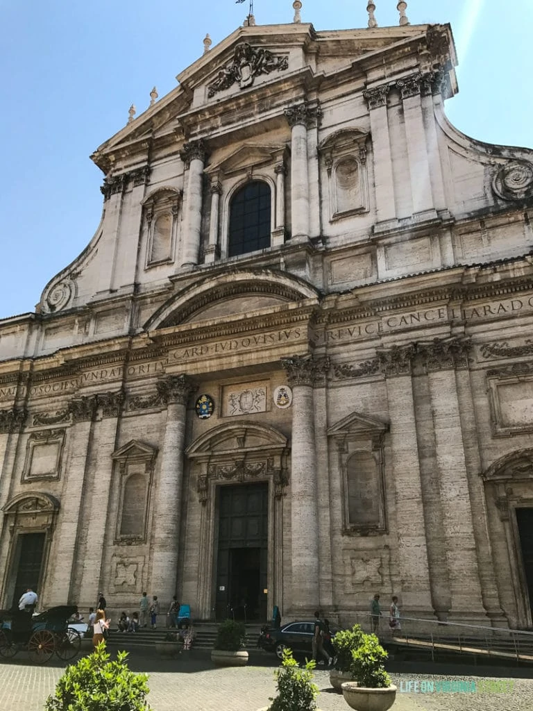
M 187 375 L 171 375 L 158 383 L 158 391 L 166 401 L 167 408 L 161 447 L 161 469 L 156 480 L 151 589 L 156 592 L 164 606 L 176 593 L 185 413 L 193 385 Z

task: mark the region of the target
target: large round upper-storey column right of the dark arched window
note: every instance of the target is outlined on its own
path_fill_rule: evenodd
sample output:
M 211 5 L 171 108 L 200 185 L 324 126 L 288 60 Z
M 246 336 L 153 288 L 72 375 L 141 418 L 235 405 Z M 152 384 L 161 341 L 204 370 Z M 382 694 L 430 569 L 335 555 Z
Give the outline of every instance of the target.
M 307 103 L 285 110 L 291 127 L 291 213 L 292 239 L 309 236 L 309 174 L 307 158 L 307 128 L 317 117 L 317 109 Z

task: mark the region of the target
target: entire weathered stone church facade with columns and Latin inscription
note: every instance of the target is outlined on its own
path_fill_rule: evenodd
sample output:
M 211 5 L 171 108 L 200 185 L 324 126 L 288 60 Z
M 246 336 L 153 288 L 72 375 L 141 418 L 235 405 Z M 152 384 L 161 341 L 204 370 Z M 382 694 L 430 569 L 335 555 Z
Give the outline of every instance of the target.
M 532 626 L 533 153 L 451 126 L 455 65 L 248 21 L 93 154 L 0 322 L 1 605 Z

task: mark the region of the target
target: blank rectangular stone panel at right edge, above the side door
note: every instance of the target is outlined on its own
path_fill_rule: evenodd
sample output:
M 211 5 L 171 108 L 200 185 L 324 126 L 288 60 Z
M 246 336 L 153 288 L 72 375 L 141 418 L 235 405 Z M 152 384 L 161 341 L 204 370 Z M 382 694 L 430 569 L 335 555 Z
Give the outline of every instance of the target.
M 533 431 L 533 375 L 489 380 L 492 431 L 508 437 Z

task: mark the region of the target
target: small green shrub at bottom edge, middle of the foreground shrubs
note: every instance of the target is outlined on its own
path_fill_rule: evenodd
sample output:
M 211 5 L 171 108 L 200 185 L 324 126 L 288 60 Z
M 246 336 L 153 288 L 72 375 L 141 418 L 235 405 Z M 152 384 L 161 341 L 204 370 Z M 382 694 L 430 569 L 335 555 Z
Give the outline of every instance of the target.
M 301 669 L 291 650 L 284 649 L 281 668 L 274 672 L 278 695 L 269 699 L 272 702 L 269 711 L 316 711 L 318 686 L 313 684 L 315 665 L 312 659 L 306 661 Z

